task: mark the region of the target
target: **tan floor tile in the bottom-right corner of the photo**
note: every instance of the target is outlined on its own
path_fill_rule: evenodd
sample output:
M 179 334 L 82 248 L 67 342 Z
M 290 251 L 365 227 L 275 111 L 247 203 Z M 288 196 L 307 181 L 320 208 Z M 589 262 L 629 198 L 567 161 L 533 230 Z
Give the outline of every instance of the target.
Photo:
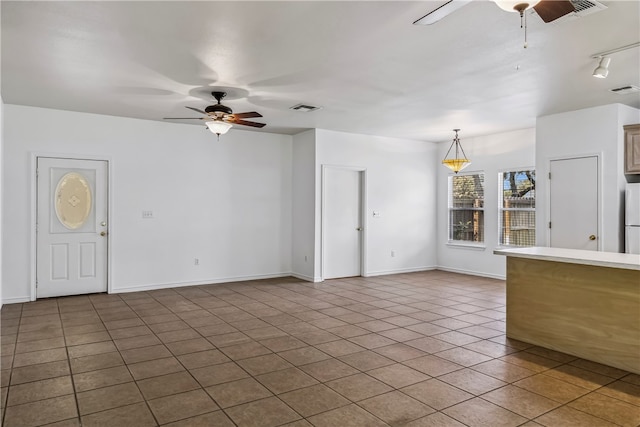
M 627 427 L 640 425 L 640 408 L 600 393 L 590 393 L 568 406 L 612 423 Z

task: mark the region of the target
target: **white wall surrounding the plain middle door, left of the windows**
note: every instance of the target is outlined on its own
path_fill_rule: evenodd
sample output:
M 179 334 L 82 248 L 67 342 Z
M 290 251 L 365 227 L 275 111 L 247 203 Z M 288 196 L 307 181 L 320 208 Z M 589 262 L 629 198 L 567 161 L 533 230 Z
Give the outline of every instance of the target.
M 435 268 L 436 144 L 316 130 L 316 258 L 322 165 L 366 168 L 365 275 Z M 381 216 L 373 218 L 372 212 Z M 395 257 L 391 257 L 391 251 Z M 317 264 L 317 269 L 320 264 Z M 316 269 L 316 276 L 319 271 Z

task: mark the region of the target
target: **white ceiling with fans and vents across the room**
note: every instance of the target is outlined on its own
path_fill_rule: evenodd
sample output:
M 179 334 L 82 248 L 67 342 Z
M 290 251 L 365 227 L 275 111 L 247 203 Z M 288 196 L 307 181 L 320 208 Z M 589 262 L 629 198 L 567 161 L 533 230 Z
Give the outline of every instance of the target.
M 224 104 L 262 113 L 263 131 L 427 141 L 602 104 L 640 108 L 637 94 L 608 91 L 640 86 L 640 49 L 614 54 L 607 79 L 591 76 L 592 55 L 639 40 L 640 2 L 604 1 L 551 24 L 530 12 L 527 49 L 519 16 L 489 1 L 412 25 L 442 3 L 3 0 L 2 97 L 162 120 L 197 117 L 184 107 L 213 104 L 212 88 L 226 88 Z M 300 102 L 322 109 L 289 109 Z

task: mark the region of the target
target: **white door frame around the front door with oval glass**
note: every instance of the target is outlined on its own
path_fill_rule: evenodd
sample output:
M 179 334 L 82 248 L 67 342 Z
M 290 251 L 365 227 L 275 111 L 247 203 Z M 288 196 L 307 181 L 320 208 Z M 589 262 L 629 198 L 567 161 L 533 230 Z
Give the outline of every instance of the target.
M 111 157 L 109 156 L 96 156 L 96 155 L 80 155 L 80 154 L 67 154 L 67 153 L 52 153 L 45 151 L 32 151 L 30 154 L 31 168 L 29 171 L 29 178 L 31 180 L 31 218 L 30 218 L 30 228 L 31 228 L 31 245 L 30 245 L 30 258 L 29 258 L 29 287 L 30 287 L 30 301 L 35 301 L 37 297 L 36 293 L 36 279 L 37 279 L 37 250 L 38 250 L 38 240 L 37 240 L 37 222 L 38 222 L 38 178 L 37 178 L 37 170 L 38 170 L 38 158 L 47 157 L 53 159 L 69 159 L 69 160 L 98 160 L 107 162 L 107 217 L 109 218 L 109 232 L 107 233 L 107 265 L 106 273 L 107 273 L 107 293 L 111 293 L 111 233 L 113 232 L 113 227 L 111 226 L 112 212 L 111 207 L 113 205 L 111 200 L 111 188 L 112 188 L 112 180 L 111 180 Z

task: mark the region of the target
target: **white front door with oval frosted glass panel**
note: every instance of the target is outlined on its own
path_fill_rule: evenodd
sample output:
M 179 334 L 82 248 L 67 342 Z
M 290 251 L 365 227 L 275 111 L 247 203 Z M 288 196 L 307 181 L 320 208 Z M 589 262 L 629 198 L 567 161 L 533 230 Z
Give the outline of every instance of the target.
M 107 166 L 38 157 L 37 298 L 107 291 Z

